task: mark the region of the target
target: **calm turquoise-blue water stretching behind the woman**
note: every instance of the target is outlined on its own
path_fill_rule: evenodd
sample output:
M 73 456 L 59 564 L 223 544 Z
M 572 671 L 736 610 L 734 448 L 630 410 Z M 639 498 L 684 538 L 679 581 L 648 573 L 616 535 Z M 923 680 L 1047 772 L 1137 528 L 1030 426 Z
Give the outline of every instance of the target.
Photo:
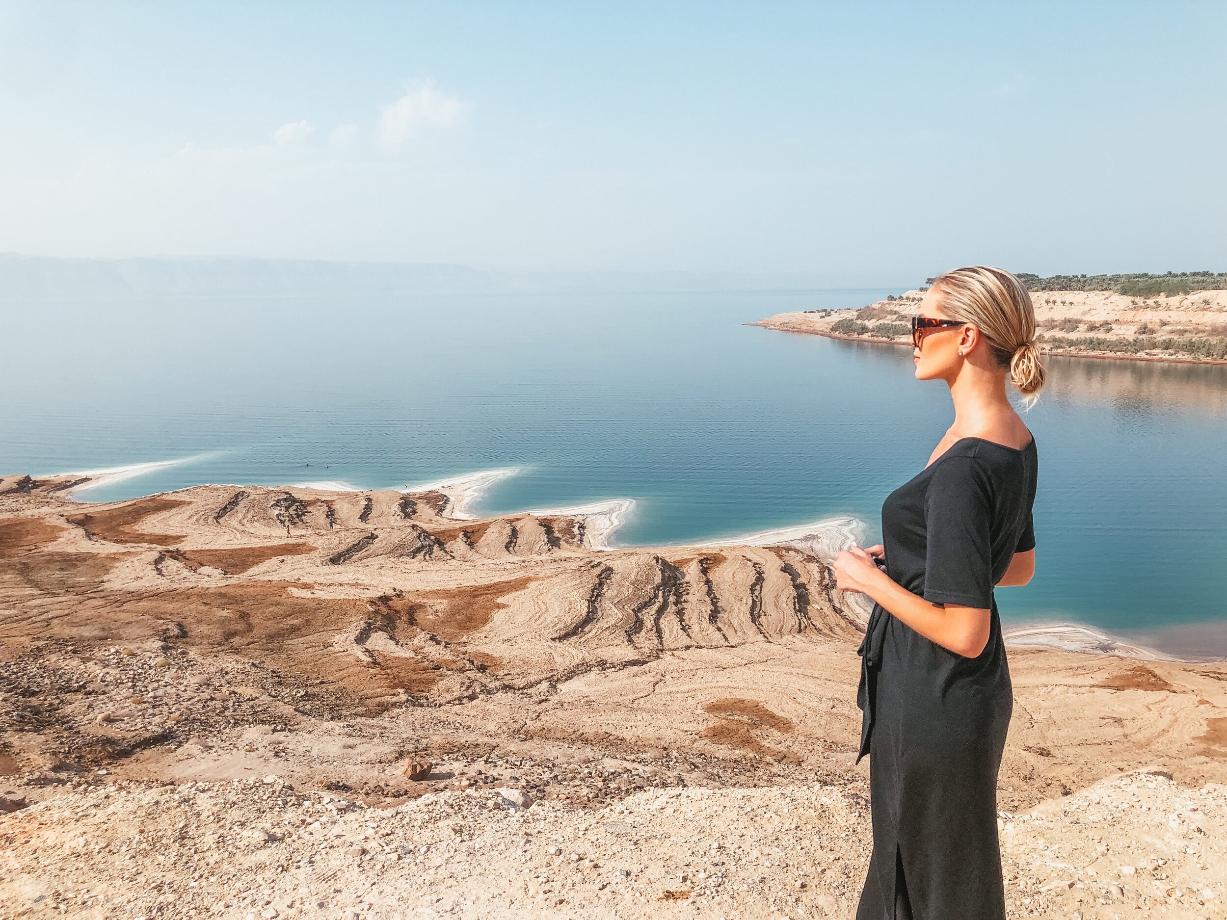
M 906 348 L 744 324 L 886 293 L 7 305 L 0 470 L 190 458 L 82 496 L 103 499 L 517 466 L 483 510 L 633 498 L 623 543 L 853 514 L 874 540 L 950 423 L 945 388 Z M 1049 369 L 1039 572 L 1004 616 L 1227 654 L 1206 646 L 1227 639 L 1227 367 Z

